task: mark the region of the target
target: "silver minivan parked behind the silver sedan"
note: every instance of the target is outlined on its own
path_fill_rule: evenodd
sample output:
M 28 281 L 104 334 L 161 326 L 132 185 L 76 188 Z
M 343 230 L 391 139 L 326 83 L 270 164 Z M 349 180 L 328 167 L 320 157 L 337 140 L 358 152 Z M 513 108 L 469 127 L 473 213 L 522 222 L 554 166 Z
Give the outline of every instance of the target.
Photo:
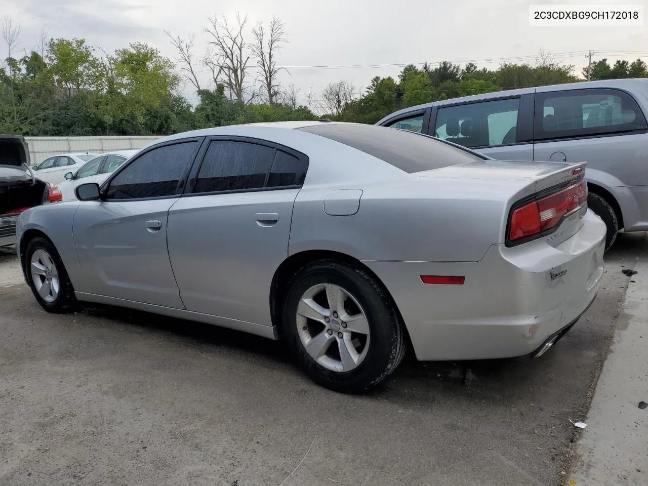
M 648 230 L 648 79 L 588 81 L 452 98 L 376 124 L 495 159 L 586 162 L 588 206 L 618 231 Z

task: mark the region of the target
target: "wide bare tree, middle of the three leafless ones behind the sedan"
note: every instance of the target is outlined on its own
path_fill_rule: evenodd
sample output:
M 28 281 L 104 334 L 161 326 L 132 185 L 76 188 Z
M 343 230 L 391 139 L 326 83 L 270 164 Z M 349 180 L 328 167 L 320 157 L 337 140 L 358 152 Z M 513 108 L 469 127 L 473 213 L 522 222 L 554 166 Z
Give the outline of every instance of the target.
M 209 19 L 210 27 L 205 32 L 212 38 L 209 45 L 213 47 L 204 58 L 211 69 L 215 82 L 224 84 L 235 97 L 244 101 L 248 76 L 248 63 L 253 52 L 244 40 L 243 31 L 248 22 L 248 16 L 241 19 L 237 14 L 237 26 L 230 27 L 227 19 L 219 21 L 216 17 Z

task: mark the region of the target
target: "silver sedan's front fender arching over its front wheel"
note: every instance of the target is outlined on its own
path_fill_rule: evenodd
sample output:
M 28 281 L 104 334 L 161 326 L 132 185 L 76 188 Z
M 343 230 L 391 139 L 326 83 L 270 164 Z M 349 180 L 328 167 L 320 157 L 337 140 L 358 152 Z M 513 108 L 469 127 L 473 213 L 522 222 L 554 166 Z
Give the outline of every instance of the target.
M 35 229 L 49 238 L 58 251 L 65 270 L 76 292 L 87 292 L 86 279 L 76 257 L 73 222 L 80 201 L 45 204 L 27 209 L 18 218 L 16 238 L 20 242 L 25 233 Z M 19 246 L 16 248 L 19 251 Z M 22 261 L 24 255 L 19 254 Z

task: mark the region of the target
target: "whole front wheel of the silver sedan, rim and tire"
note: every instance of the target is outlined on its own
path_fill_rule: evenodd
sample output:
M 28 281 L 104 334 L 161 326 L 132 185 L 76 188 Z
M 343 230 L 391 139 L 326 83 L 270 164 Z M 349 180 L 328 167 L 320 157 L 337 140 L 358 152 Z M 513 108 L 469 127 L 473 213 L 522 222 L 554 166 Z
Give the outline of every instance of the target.
M 76 303 L 74 289 L 54 245 L 45 238 L 34 238 L 25 251 L 27 283 L 38 303 L 47 312 L 64 314 Z

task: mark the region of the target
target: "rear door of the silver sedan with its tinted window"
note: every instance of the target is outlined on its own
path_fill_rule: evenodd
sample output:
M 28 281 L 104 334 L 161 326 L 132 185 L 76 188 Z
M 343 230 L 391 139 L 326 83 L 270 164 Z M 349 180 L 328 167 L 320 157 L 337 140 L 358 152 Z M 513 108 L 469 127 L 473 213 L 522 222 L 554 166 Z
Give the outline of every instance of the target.
M 256 139 L 214 137 L 168 215 L 168 251 L 187 310 L 270 325 L 308 159 Z

